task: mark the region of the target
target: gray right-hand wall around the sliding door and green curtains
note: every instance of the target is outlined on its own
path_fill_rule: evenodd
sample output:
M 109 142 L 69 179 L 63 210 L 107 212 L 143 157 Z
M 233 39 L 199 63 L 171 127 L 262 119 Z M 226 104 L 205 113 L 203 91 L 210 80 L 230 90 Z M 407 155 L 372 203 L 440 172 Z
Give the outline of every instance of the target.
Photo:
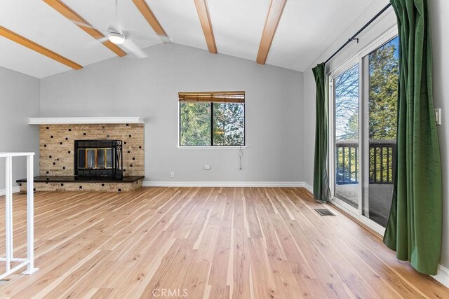
M 373 17 L 382 7 L 384 7 L 388 1 L 376 0 L 373 5 L 370 6 L 356 22 L 354 22 L 347 31 L 340 36 L 333 46 L 330 46 L 321 57 L 311 67 L 314 67 L 316 63 L 326 60 L 330 55 L 339 48 L 344 41 L 352 36 L 363 24 L 365 24 L 370 18 Z M 441 248 L 441 261 L 440 264 L 446 268 L 449 268 L 449 93 L 447 90 L 449 82 L 449 1 L 429 1 L 430 8 L 430 20 L 432 27 L 432 39 L 433 39 L 433 54 L 434 54 L 434 101 L 435 107 L 441 108 L 443 111 L 443 125 L 438 127 L 440 146 L 441 146 L 441 159 L 443 168 L 443 245 Z M 385 29 L 396 25 L 396 17 L 391 10 L 381 20 L 376 22 L 375 25 L 361 36 L 361 43 L 354 43 L 352 46 L 346 48 L 335 60 L 329 65 L 329 69 L 333 69 L 351 55 L 362 49 L 366 42 L 373 41 L 379 34 Z M 304 109 L 303 109 L 303 121 L 304 124 L 315 123 L 315 83 L 314 76 L 311 73 L 311 68 L 304 72 Z M 311 146 L 304 147 L 304 181 L 313 183 L 314 172 L 314 130 L 304 130 L 304 144 L 311 144 Z

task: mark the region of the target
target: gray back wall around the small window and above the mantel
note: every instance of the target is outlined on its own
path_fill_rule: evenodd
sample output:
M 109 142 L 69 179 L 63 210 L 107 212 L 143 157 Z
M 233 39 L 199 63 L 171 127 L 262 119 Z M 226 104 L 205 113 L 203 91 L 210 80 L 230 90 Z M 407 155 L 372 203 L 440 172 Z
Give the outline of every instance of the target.
M 302 181 L 302 73 L 176 44 L 146 51 L 42 79 L 41 116 L 144 116 L 147 181 Z M 210 90 L 246 91 L 243 170 L 235 149 L 177 149 L 177 92 Z

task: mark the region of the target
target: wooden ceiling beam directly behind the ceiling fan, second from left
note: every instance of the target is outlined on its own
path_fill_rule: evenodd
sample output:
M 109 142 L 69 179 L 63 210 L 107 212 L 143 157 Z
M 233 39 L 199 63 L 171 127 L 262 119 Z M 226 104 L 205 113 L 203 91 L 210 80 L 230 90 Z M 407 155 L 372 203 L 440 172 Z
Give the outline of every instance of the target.
M 48 4 L 49 6 L 51 6 L 52 8 L 54 8 L 55 11 L 58 11 L 58 13 L 60 13 L 61 15 L 64 15 L 65 18 L 73 21 L 76 26 L 83 29 L 87 34 L 92 36 L 94 39 L 105 38 L 105 35 L 103 35 L 97 29 L 93 28 L 92 25 L 89 24 L 89 22 L 87 22 L 86 20 L 81 18 L 81 15 L 72 11 L 72 9 L 69 8 L 67 5 L 65 5 L 64 3 L 62 3 L 62 1 L 60 1 L 60 0 L 43 0 L 43 1 L 46 4 Z M 86 26 L 83 26 L 83 24 Z M 123 57 L 126 55 L 125 51 L 121 50 L 121 48 L 119 46 L 117 46 L 114 43 L 111 43 L 108 40 L 102 41 L 101 43 L 103 45 L 105 45 L 107 48 L 109 48 L 109 50 L 112 50 L 112 52 L 114 52 L 118 56 Z

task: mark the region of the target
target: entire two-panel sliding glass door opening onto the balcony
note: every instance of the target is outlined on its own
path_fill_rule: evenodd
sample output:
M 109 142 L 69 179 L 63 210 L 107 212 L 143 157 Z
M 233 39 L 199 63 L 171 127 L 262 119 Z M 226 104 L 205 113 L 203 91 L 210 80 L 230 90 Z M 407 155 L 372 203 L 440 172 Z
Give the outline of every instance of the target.
M 329 75 L 333 200 L 380 232 L 396 158 L 398 37 L 390 36 Z

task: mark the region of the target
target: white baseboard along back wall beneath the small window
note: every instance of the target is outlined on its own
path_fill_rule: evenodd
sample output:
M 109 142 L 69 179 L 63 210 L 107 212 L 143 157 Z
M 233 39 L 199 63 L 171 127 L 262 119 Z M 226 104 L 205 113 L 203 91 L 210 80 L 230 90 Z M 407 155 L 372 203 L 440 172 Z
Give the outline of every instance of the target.
M 144 181 L 144 187 L 302 187 L 311 190 L 302 181 Z

